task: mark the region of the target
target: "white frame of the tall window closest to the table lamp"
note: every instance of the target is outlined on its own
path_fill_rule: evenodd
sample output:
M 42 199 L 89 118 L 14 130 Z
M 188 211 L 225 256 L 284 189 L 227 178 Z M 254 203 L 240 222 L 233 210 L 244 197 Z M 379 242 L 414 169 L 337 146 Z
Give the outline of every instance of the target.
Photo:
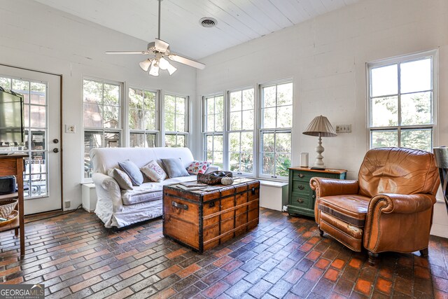
M 284 133 L 288 133 L 290 134 L 290 161 L 292 162 L 292 158 L 293 158 L 293 117 L 291 119 L 291 127 L 274 127 L 274 128 L 262 128 L 262 88 L 266 88 L 269 86 L 277 86 L 277 85 L 283 85 L 286 83 L 291 83 L 293 85 L 293 94 L 292 94 L 292 102 L 290 105 L 285 105 L 285 106 L 291 106 L 291 109 L 293 109 L 294 107 L 294 81 L 292 78 L 285 78 L 283 80 L 278 80 L 278 81 L 270 81 L 268 83 L 262 83 L 258 85 L 258 153 L 257 153 L 257 158 L 258 158 L 258 169 L 257 169 L 257 176 L 260 179 L 270 179 L 270 180 L 276 180 L 276 181 L 288 181 L 288 176 L 279 176 L 279 175 L 271 175 L 271 174 L 263 174 L 262 173 L 262 169 L 263 169 L 263 144 L 262 144 L 262 135 L 265 133 L 273 133 L 274 134 L 274 142 L 276 140 L 276 134 L 284 134 Z M 275 107 L 279 107 L 279 106 L 275 106 Z M 294 111 L 294 109 L 293 109 Z M 276 143 L 275 143 L 276 144 Z M 276 146 L 274 147 L 274 157 L 276 154 Z M 279 152 L 281 153 L 281 152 Z M 290 165 L 291 167 L 292 165 Z M 274 167 L 276 167 L 276 165 L 274 165 Z

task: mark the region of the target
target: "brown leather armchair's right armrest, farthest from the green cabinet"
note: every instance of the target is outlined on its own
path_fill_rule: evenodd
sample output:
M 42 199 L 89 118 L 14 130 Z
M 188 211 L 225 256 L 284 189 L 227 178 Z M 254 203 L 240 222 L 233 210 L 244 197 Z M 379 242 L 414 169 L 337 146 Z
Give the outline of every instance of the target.
M 369 211 L 381 209 L 381 213 L 411 214 L 426 211 L 435 204 L 435 196 L 428 194 L 395 194 L 375 195 L 370 200 Z

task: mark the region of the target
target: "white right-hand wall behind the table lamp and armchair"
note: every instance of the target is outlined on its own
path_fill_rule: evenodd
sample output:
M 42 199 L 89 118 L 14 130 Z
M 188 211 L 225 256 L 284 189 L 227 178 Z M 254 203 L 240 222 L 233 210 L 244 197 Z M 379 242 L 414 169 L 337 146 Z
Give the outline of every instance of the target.
M 352 133 L 323 139 L 323 155 L 327 167 L 348 169 L 349 179 L 354 179 L 368 149 L 366 62 L 438 50 L 434 145 L 448 145 L 447 28 L 446 0 L 360 1 L 206 57 L 202 62 L 207 68 L 197 72 L 196 109 L 202 95 L 293 78 L 293 165 L 298 165 L 300 152 L 310 153 L 314 161 L 317 138 L 302 131 L 322 114 L 333 126 L 352 125 Z M 433 234 L 448 237 L 443 204 L 435 209 Z

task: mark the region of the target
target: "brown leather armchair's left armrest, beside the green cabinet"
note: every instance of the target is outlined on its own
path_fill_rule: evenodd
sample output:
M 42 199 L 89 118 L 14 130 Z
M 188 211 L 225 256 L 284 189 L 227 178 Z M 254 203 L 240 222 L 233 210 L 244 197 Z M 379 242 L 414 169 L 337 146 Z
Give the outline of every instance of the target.
M 359 183 L 355 180 L 314 177 L 309 181 L 309 186 L 316 191 L 316 198 L 332 195 L 358 194 L 359 191 Z

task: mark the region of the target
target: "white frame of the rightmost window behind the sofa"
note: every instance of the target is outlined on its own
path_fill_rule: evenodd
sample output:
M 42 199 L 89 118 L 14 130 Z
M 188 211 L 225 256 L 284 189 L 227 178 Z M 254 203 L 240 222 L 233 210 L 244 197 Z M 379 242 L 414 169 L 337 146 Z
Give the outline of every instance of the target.
M 175 99 L 175 101 L 174 101 L 174 107 L 176 107 L 176 103 L 177 103 L 177 98 L 178 97 L 181 97 L 181 98 L 183 98 L 183 99 L 185 99 L 185 105 L 186 105 L 186 107 L 185 107 L 185 120 L 184 120 L 184 122 L 185 122 L 185 131 L 178 131 L 178 130 L 176 130 L 177 129 L 177 127 L 176 127 L 176 116 L 177 116 L 177 113 L 176 113 L 176 108 L 174 109 L 174 127 L 175 127 L 175 130 L 176 131 L 167 131 L 166 130 L 166 128 L 165 128 L 165 113 L 166 113 L 166 111 L 165 111 L 165 97 L 167 97 L 167 96 L 172 96 L 172 97 L 174 97 L 174 99 Z M 190 105 L 190 97 L 189 96 L 187 96 L 187 95 L 181 95 L 181 94 L 178 94 L 178 93 L 176 93 L 176 92 L 164 92 L 163 93 L 163 97 L 161 97 L 161 104 L 160 104 L 160 107 L 161 107 L 161 120 L 160 120 L 160 123 L 161 123 L 161 126 L 162 126 L 162 130 L 161 130 L 161 132 L 162 132 L 162 144 L 164 145 L 164 146 L 167 146 L 167 144 L 166 144 L 166 136 L 167 135 L 170 135 L 170 136 L 175 136 L 176 137 L 176 144 L 177 144 L 177 139 L 178 139 L 178 137 L 179 136 L 183 136 L 183 138 L 184 138 L 184 147 L 188 147 L 188 146 L 190 146 L 190 127 L 191 127 L 191 125 L 190 125 L 190 112 L 191 112 L 191 105 Z

